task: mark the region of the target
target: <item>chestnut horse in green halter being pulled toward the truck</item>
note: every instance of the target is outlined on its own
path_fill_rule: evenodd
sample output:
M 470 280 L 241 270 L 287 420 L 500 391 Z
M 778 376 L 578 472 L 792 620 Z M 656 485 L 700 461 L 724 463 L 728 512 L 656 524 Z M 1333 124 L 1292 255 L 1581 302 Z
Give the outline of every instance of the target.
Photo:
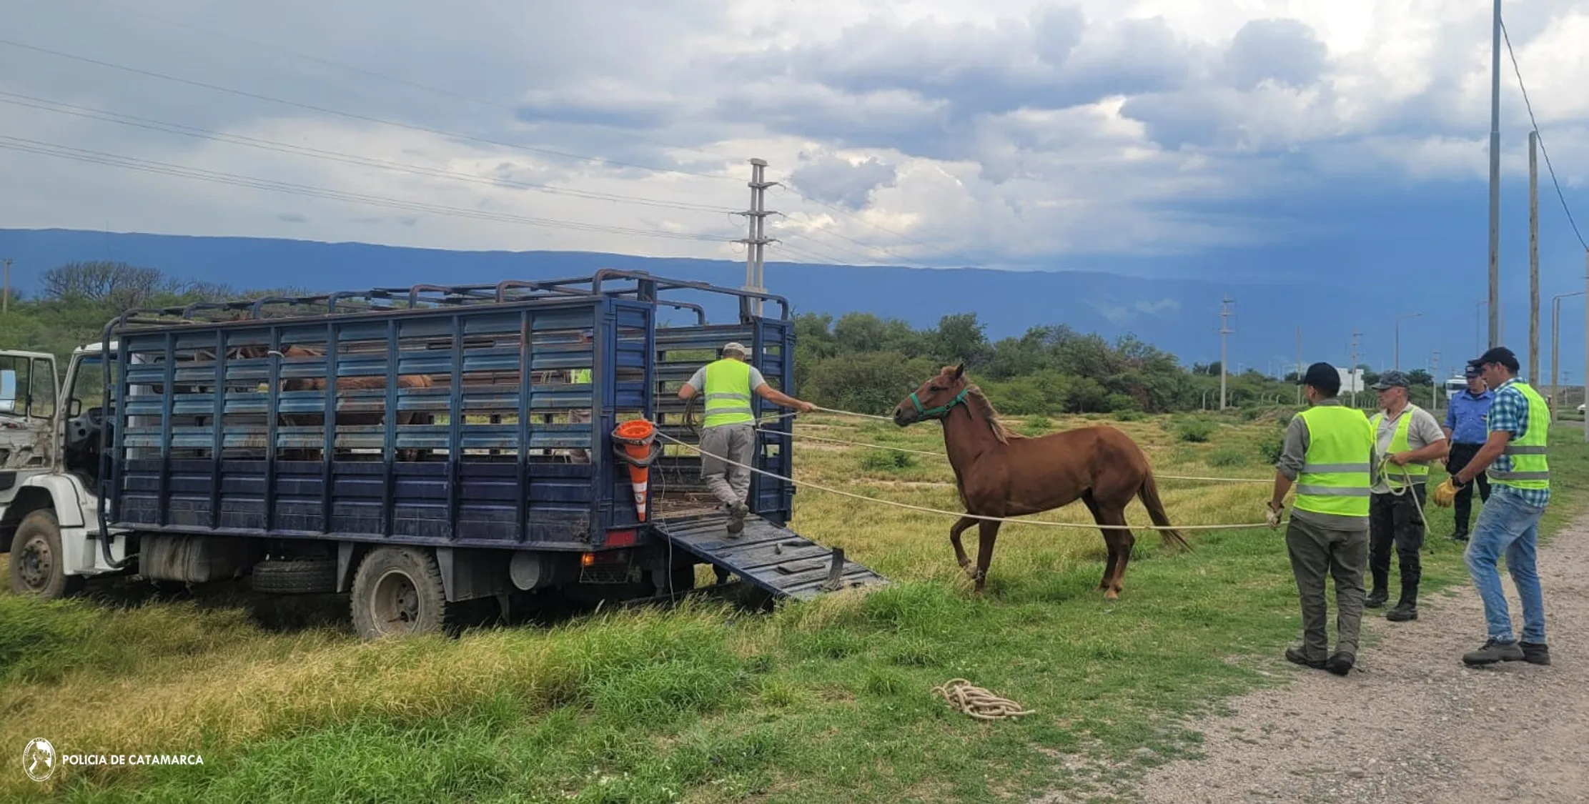
M 944 424 L 944 450 L 955 469 L 955 486 L 966 513 L 949 529 L 955 558 L 982 593 L 998 521 L 976 516 L 1019 516 L 1068 505 L 1077 499 L 1087 504 L 1103 531 L 1109 564 L 1098 588 L 1109 601 L 1119 597 L 1125 566 L 1131 559 L 1136 537 L 1123 526 L 1125 507 L 1141 497 L 1147 515 L 1162 531 L 1163 543 L 1190 550 L 1179 532 L 1168 529 L 1170 516 L 1158 501 L 1147 456 L 1123 432 L 1108 427 L 1077 427 L 1028 439 L 1009 432 L 982 391 L 965 377 L 966 367 L 950 365 L 917 388 L 893 410 L 895 424 L 904 427 L 923 419 Z M 976 524 L 980 529 L 977 566 L 960 543 L 960 534 Z

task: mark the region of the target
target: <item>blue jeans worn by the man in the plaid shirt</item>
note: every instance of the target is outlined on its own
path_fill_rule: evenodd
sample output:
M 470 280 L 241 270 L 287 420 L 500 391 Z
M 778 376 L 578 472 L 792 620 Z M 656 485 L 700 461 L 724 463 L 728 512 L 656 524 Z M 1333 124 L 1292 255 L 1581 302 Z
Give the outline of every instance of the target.
M 1463 558 L 1473 585 L 1484 601 L 1484 620 L 1489 637 L 1511 642 L 1511 615 L 1506 610 L 1506 594 L 1500 586 L 1495 562 L 1506 556 L 1506 570 L 1517 585 L 1522 602 L 1522 640 L 1545 644 L 1545 596 L 1540 593 L 1540 574 L 1535 570 L 1535 551 L 1540 543 L 1540 516 L 1543 507 L 1529 505 L 1517 494 L 1495 486 L 1479 518 L 1473 523 L 1473 535 Z

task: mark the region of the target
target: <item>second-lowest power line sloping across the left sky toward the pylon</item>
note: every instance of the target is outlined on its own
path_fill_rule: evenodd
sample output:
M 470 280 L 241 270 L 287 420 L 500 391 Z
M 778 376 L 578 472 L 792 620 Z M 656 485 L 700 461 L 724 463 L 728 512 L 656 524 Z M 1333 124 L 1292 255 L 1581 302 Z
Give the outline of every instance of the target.
M 14 105 L 14 106 L 27 106 L 27 108 L 35 108 L 35 110 L 43 110 L 43 111 L 52 111 L 52 113 L 57 113 L 57 114 L 70 114 L 70 116 L 84 118 L 84 119 L 97 119 L 97 121 L 103 121 L 103 122 L 114 122 L 114 124 L 119 124 L 119 126 L 132 126 L 132 127 L 137 127 L 137 129 L 148 129 L 148 130 L 159 130 L 159 132 L 167 132 L 167 133 L 178 133 L 178 135 L 183 135 L 183 137 L 195 137 L 195 138 L 200 138 L 200 140 L 211 140 L 211 141 L 219 141 L 219 143 L 242 145 L 242 146 L 248 146 L 248 148 L 259 148 L 259 149 L 276 151 L 276 153 L 283 153 L 283 154 L 307 156 L 307 157 L 311 157 L 311 159 L 326 159 L 326 160 L 331 160 L 331 162 L 343 162 L 343 164 L 350 164 L 350 165 L 364 165 L 364 167 L 375 167 L 375 168 L 381 168 L 381 170 L 396 170 L 396 172 L 402 172 L 402 173 L 416 173 L 416 175 L 426 175 L 426 176 L 435 176 L 435 178 L 448 178 L 448 180 L 458 180 L 458 181 L 469 181 L 469 183 L 474 183 L 474 184 L 494 184 L 494 186 L 508 186 L 508 187 L 524 187 L 524 189 L 532 189 L 532 191 L 537 191 L 537 192 L 548 192 L 548 194 L 553 194 L 553 195 L 572 195 L 572 197 L 578 197 L 578 199 L 609 200 L 609 202 L 620 202 L 620 203 L 639 203 L 639 205 L 645 205 L 645 207 L 667 207 L 667 208 L 675 208 L 675 210 L 712 211 L 712 213 L 736 211 L 736 210 L 731 210 L 728 207 L 713 207 L 713 205 L 706 205 L 706 203 L 669 202 L 669 200 L 663 200 L 663 199 L 645 199 L 645 197 L 639 197 L 639 195 L 624 195 L 624 194 L 615 194 L 615 192 L 594 192 L 594 191 L 580 191 L 580 189 L 570 189 L 570 187 L 553 187 L 550 184 L 537 184 L 537 183 L 532 183 L 532 181 L 518 181 L 518 180 L 507 180 L 507 178 L 477 176 L 477 175 L 470 175 L 470 173 L 459 173 L 456 170 L 442 170 L 442 168 L 432 168 L 432 167 L 423 167 L 423 165 L 410 165 L 410 164 L 404 164 L 404 162 L 391 162 L 391 160 L 386 160 L 386 159 L 372 159 L 372 157 L 364 157 L 364 156 L 345 154 L 345 153 L 340 153 L 340 151 L 326 151 L 326 149 L 321 149 L 321 148 L 310 148 L 310 146 L 302 146 L 302 145 L 281 143 L 281 141 L 275 141 L 275 140 L 262 140 L 262 138 L 257 138 L 257 137 L 245 137 L 245 135 L 240 135 L 240 133 L 226 133 L 226 132 L 216 132 L 216 130 L 210 130 L 210 129 L 199 129 L 195 126 L 184 126 L 181 122 L 165 122 L 165 121 L 157 121 L 157 119 L 151 119 L 151 118 L 140 118 L 137 114 L 122 114 L 119 111 L 95 110 L 95 108 L 91 108 L 91 106 L 76 106 L 76 105 L 72 105 L 72 103 L 60 103 L 60 102 L 56 102 L 56 100 L 37 99 L 37 97 L 32 97 L 32 95 L 19 95 L 19 94 L 14 94 L 14 92 L 3 92 L 3 91 L 0 91 L 0 103 L 10 103 L 10 105 Z

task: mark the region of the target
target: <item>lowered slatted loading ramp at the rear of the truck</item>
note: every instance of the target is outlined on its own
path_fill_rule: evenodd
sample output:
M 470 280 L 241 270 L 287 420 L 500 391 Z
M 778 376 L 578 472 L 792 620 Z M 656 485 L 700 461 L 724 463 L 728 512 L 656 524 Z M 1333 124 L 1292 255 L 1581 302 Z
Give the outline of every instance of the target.
M 728 535 L 728 515 L 669 518 L 651 526 L 674 547 L 739 575 L 774 597 L 798 601 L 856 586 L 882 586 L 888 578 L 760 516 L 747 516 L 745 529 Z

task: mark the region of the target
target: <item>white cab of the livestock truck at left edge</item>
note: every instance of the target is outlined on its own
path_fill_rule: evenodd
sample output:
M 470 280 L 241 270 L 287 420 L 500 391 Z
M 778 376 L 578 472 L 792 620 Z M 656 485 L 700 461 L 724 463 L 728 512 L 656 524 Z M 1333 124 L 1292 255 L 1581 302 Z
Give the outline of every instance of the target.
M 0 351 L 0 553 L 13 594 L 62 597 L 126 561 L 126 539 L 102 545 L 95 496 L 105 359 L 100 343 L 78 348 L 60 385 L 52 354 Z

